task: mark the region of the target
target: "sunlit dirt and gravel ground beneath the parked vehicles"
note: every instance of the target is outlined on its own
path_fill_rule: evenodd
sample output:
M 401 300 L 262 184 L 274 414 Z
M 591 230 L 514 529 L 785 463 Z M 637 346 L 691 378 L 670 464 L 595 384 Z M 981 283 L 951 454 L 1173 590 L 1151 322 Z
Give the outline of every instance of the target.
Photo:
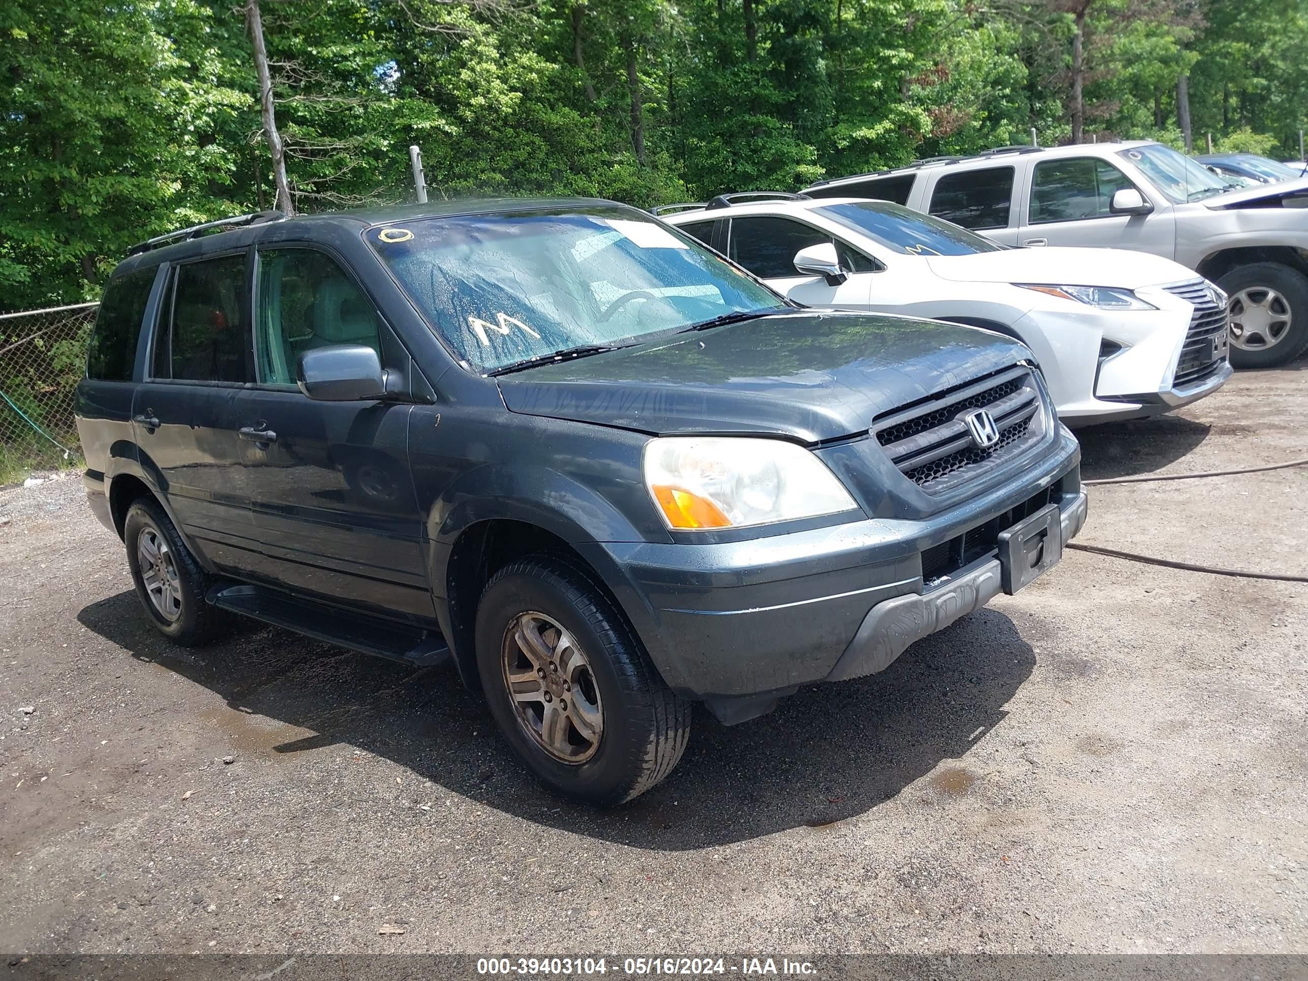
M 1301 368 L 1244 373 L 1084 472 L 1303 458 L 1305 419 Z M 1308 574 L 1308 468 L 1092 488 L 1079 540 Z M 882 675 L 698 713 L 596 812 L 453 668 L 171 649 L 76 477 L 4 490 L 0 948 L 1301 954 L 1305 594 L 1070 552 Z

